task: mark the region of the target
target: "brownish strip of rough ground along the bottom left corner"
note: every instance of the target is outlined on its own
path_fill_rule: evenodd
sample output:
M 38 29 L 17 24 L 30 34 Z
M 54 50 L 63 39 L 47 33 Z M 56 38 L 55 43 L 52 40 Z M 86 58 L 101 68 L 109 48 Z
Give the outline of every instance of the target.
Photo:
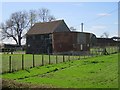
M 3 79 L 2 80 L 2 89 L 7 90 L 8 88 L 15 89 L 15 88 L 53 88 L 52 86 L 45 86 L 45 85 L 36 85 L 31 83 L 20 83 L 14 80 Z

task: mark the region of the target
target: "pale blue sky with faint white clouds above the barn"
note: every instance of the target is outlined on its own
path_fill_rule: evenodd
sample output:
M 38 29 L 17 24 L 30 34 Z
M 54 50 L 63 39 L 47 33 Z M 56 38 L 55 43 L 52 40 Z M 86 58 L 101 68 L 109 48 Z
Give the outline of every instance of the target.
M 117 1 L 117 0 L 116 0 Z M 2 7 L 1 7 L 2 6 Z M 68 27 L 100 37 L 104 32 L 110 37 L 118 35 L 118 2 L 2 2 L 0 22 L 6 21 L 11 13 L 31 9 L 48 8 L 57 20 L 64 19 Z M 11 40 L 4 41 L 12 42 Z M 12 42 L 14 43 L 14 42 Z

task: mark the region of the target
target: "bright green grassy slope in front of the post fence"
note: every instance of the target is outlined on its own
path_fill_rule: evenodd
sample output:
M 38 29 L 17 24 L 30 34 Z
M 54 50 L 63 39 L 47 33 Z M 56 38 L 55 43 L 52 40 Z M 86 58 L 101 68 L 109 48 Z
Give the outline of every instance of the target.
M 17 82 L 72 88 L 118 87 L 118 56 L 99 56 L 3 74 Z

